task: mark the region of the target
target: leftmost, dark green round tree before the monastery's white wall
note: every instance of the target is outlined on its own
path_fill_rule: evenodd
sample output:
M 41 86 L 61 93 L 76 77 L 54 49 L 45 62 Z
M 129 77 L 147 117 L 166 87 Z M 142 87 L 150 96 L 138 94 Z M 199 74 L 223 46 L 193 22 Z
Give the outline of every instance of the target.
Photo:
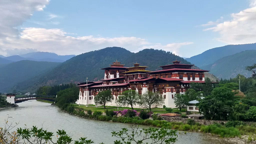
M 96 105 L 101 104 L 106 108 L 106 103 L 112 101 L 112 92 L 110 90 L 100 91 L 98 95 L 94 97 L 94 102 Z

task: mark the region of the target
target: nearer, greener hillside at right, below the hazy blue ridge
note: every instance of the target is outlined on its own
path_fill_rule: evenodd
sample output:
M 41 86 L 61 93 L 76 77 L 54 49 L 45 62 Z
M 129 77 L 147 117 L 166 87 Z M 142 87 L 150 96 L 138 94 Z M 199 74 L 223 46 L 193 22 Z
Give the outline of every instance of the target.
M 245 68 L 246 66 L 251 66 L 255 63 L 256 50 L 246 50 L 231 56 L 223 57 L 215 61 L 213 64 L 203 66 L 201 68 L 210 70 L 210 73 L 214 74 L 219 79 L 229 79 L 230 77 L 236 77 L 237 74 L 250 77 L 251 72 L 245 70 Z

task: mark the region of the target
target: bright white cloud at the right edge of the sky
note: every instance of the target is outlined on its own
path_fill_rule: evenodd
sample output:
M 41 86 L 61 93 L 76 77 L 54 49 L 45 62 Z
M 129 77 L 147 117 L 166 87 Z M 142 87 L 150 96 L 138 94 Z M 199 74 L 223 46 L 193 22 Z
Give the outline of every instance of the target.
M 256 0 L 251 0 L 250 6 L 251 8 L 231 14 L 231 20 L 222 23 L 218 23 L 217 20 L 214 27 L 206 28 L 204 31 L 218 32 L 220 37 L 216 39 L 227 44 L 256 43 Z

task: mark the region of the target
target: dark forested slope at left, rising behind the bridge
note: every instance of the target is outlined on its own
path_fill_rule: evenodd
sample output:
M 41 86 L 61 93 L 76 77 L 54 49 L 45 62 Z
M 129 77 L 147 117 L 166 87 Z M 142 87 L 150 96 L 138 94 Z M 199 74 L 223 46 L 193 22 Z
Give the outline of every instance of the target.
M 22 60 L 4 65 L 0 70 L 0 92 L 7 92 L 15 84 L 27 79 L 35 79 L 36 76 L 59 64 L 46 61 Z

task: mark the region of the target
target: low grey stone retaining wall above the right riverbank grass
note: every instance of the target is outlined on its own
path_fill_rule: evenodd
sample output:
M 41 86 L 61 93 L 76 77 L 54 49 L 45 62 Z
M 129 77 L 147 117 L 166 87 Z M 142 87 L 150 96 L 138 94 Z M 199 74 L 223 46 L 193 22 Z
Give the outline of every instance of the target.
M 183 122 L 184 124 L 187 123 L 188 118 L 179 118 L 179 117 L 166 117 L 166 116 L 162 116 L 162 118 L 166 121 L 170 121 L 170 122 Z M 210 124 L 214 124 L 214 123 L 218 123 L 218 124 L 225 124 L 227 121 L 224 120 L 204 120 L 204 119 L 194 119 L 195 122 L 198 122 L 199 124 L 202 125 L 210 125 Z M 250 122 L 250 121 L 245 121 L 244 123 L 251 125 L 251 124 L 256 124 L 256 122 Z

